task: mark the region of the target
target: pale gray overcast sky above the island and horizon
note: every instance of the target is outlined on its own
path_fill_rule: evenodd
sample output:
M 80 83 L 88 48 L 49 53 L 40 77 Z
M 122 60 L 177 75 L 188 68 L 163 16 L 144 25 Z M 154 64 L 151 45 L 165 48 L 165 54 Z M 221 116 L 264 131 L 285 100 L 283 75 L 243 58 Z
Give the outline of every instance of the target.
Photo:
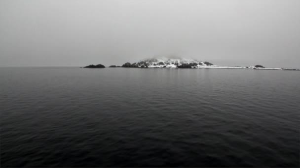
M 0 0 L 0 66 L 300 67 L 300 0 Z

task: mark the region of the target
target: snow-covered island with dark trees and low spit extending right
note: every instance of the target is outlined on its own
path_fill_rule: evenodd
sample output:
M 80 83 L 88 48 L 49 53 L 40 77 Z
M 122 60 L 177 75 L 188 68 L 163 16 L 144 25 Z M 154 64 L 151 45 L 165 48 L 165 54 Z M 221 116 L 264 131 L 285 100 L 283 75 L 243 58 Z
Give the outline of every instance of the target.
M 223 68 L 223 69 L 265 69 L 265 70 L 300 70 L 289 68 L 267 68 L 262 65 L 252 66 L 219 66 L 206 61 L 186 58 L 150 58 L 135 63 L 126 62 L 125 68 Z

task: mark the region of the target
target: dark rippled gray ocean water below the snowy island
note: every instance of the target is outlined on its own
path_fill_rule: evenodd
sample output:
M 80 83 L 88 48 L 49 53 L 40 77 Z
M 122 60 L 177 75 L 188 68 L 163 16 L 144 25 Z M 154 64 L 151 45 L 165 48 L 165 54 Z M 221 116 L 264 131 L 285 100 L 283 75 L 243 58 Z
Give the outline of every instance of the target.
M 0 68 L 1 167 L 300 167 L 300 72 Z

